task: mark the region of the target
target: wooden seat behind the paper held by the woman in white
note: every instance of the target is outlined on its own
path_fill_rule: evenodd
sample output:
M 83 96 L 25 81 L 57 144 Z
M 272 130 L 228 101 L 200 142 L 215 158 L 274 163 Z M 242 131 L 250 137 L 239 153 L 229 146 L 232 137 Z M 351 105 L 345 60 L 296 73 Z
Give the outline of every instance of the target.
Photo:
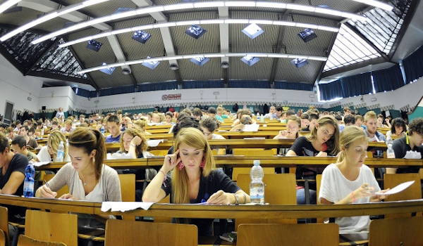
M 389 195 L 388 198 L 385 199 L 386 202 L 391 201 L 401 201 L 401 200 L 415 200 L 415 199 L 422 199 L 422 187 L 419 174 L 385 174 L 384 175 L 384 189 L 387 188 L 394 188 L 398 186 L 400 183 L 404 183 L 407 181 L 414 180 L 410 187 L 401 191 L 400 193 L 396 193 L 393 195 Z M 420 216 L 422 215 L 421 212 L 418 213 Z M 398 217 L 407 217 L 411 216 L 410 213 L 405 214 L 385 214 L 385 218 L 398 218 Z

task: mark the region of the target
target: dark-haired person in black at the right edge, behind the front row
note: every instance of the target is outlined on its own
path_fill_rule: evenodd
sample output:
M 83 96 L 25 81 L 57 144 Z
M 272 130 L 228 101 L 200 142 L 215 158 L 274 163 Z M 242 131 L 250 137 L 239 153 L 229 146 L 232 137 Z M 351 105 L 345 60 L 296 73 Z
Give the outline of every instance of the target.
M 397 138 L 392 143 L 396 158 L 403 158 L 407 151 L 413 150 L 423 157 L 423 118 L 415 118 L 408 125 L 408 131 L 402 138 Z M 386 174 L 418 173 L 420 167 L 386 168 Z

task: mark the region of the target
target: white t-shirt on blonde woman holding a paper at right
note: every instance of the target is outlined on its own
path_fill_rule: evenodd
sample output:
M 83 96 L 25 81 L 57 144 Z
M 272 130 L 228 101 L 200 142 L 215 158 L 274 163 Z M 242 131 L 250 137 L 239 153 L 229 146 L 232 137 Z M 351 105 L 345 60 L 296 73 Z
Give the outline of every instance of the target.
M 369 186 L 374 187 L 375 191 L 381 190 L 372 170 L 365 164 L 360 167 L 360 174 L 355 181 L 346 179 L 336 164 L 330 164 L 321 174 L 319 202 L 321 198 L 324 198 L 329 202 L 336 203 L 362 186 L 363 183 L 369 183 Z M 357 199 L 354 203 L 366 203 L 369 200 L 370 197 L 365 197 Z M 369 231 L 370 219 L 369 216 L 341 217 L 336 218 L 335 223 L 338 224 L 341 234 L 360 233 Z

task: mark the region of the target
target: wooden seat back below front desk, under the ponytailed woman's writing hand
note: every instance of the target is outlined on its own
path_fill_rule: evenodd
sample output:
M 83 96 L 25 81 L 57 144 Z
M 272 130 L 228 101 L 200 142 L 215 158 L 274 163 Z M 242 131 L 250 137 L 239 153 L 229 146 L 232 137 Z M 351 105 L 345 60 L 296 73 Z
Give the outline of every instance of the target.
M 63 242 L 78 245 L 78 217 L 76 214 L 59 214 L 27 209 L 25 235 L 35 240 Z

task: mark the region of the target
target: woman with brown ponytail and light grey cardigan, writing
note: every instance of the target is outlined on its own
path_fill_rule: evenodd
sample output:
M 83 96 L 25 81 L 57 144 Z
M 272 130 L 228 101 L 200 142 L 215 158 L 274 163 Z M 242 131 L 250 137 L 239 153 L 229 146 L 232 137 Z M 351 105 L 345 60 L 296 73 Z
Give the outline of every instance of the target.
M 56 191 L 68 185 L 69 193 L 59 199 L 92 202 L 121 202 L 121 183 L 115 169 L 103 164 L 106 147 L 103 135 L 96 129 L 78 127 L 69 136 L 69 155 L 72 162 L 65 164 L 51 179 L 38 188 L 37 198 L 56 198 Z M 78 214 L 78 226 L 104 228 L 109 216 Z

